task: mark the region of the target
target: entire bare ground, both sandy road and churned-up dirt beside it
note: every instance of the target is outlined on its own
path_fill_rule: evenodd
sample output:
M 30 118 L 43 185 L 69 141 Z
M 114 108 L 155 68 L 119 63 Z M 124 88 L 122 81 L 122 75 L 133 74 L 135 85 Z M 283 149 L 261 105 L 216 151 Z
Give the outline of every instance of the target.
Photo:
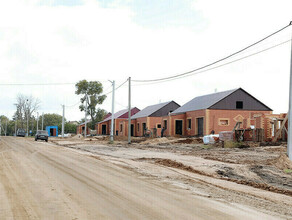
M 0 219 L 292 219 L 286 146 L 1 137 Z

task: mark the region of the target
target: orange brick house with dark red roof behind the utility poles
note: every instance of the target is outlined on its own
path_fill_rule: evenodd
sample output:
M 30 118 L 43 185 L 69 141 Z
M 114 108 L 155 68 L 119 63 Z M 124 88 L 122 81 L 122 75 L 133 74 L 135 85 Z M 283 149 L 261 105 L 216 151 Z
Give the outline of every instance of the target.
M 131 109 L 131 116 L 139 112 L 140 109 L 134 107 Z M 109 135 L 112 116 L 107 117 L 103 121 L 97 123 L 97 134 Z M 128 109 L 123 109 L 114 114 L 114 135 L 123 135 L 124 129 L 120 129 L 120 124 L 128 120 Z

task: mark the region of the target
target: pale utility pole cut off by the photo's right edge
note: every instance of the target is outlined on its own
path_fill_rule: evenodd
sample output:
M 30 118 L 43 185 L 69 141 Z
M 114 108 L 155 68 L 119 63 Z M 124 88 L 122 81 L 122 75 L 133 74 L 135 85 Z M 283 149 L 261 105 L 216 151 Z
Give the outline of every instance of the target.
M 290 25 L 292 21 L 290 21 Z M 289 87 L 289 111 L 288 111 L 288 143 L 287 154 L 292 160 L 292 42 L 291 43 L 291 57 L 290 57 L 290 87 Z

